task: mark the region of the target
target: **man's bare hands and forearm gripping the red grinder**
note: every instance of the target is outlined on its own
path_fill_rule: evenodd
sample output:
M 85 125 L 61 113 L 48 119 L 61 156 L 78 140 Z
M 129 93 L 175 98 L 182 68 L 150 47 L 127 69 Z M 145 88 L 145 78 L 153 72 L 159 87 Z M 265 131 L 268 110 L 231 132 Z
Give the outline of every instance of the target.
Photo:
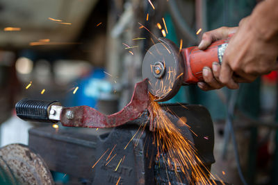
M 199 49 L 206 49 L 211 42 L 224 39 L 230 33 L 235 34 L 224 52 L 222 66 L 213 64 L 212 71 L 204 67 L 204 82 L 198 83 L 201 89 L 219 89 L 224 85 L 237 89 L 239 82 L 253 82 L 258 76 L 278 69 L 278 10 L 272 11 L 275 5 L 278 1 L 263 1 L 238 27 L 204 33 Z

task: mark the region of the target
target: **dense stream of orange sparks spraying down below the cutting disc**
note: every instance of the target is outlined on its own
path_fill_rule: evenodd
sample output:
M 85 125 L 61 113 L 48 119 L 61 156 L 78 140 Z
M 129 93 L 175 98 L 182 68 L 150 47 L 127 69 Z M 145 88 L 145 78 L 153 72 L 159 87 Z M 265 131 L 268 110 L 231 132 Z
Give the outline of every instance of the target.
M 193 143 L 181 135 L 180 130 L 170 121 L 170 118 L 166 116 L 165 111 L 154 101 L 154 96 L 151 96 L 151 98 L 150 107 L 152 109 L 152 114 L 156 115 L 154 122 L 154 125 L 156 125 L 156 135 L 155 142 L 153 141 L 156 143 L 158 151 L 156 159 L 162 157 L 162 161 L 165 164 L 171 164 L 170 166 L 173 164 L 174 172 L 179 182 L 181 182 L 181 177 L 179 176 L 179 171 L 181 171 L 183 175 L 186 175 L 188 182 L 212 184 L 209 182 L 209 175 L 211 174 L 199 158 Z M 168 162 L 164 157 L 165 152 L 167 153 L 165 157 L 170 159 Z M 167 170 L 167 168 L 165 168 L 165 170 Z M 190 175 L 187 173 L 188 170 L 192 172 Z M 211 175 L 211 177 L 213 177 L 213 175 Z

